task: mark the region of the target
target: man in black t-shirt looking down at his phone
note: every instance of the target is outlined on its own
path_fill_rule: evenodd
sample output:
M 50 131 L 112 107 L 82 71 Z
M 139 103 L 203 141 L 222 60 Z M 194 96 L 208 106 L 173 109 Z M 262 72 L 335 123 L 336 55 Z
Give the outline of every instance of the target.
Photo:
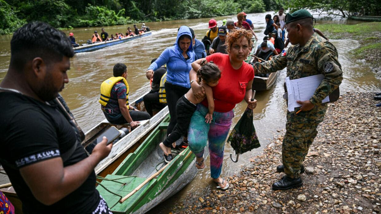
M 0 164 L 27 214 L 111 214 L 95 189 L 107 139 L 87 156 L 83 132 L 58 95 L 69 82 L 70 40 L 44 22 L 14 32 L 0 83 Z

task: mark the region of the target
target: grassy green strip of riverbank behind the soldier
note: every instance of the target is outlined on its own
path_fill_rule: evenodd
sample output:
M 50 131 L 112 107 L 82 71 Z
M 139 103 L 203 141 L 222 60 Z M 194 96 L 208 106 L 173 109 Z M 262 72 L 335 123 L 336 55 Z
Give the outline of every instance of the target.
M 356 25 L 319 24 L 329 39 L 358 40 L 360 46 L 351 52 L 353 59 L 370 65 L 373 72 L 381 77 L 381 22 L 365 22 Z

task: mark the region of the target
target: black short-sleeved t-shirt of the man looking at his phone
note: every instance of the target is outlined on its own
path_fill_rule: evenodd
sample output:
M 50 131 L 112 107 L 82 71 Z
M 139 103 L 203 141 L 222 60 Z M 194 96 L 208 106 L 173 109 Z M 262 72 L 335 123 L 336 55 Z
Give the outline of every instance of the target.
M 78 189 L 50 206 L 35 199 L 19 169 L 60 157 L 77 141 L 74 128 L 57 106 L 14 92 L 0 92 L 0 100 L 0 164 L 22 201 L 24 214 L 91 213 L 96 209 L 100 197 L 94 171 Z M 63 165 L 86 157 L 83 147 L 78 146 Z

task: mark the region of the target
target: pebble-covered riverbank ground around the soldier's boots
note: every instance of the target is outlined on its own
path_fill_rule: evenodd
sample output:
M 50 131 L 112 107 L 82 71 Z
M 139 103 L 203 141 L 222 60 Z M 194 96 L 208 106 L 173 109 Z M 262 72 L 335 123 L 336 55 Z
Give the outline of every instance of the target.
M 379 213 L 381 209 L 381 111 L 374 93 L 347 92 L 328 107 L 304 162 L 304 185 L 274 191 L 283 173 L 280 130 L 264 152 L 228 190 L 207 190 L 179 204 L 173 213 Z M 185 206 L 185 207 L 182 207 Z

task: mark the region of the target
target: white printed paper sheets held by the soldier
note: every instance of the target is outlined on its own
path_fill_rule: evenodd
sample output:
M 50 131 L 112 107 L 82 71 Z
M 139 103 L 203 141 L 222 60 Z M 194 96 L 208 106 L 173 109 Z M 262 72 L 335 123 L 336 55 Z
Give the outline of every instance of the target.
M 304 78 L 290 80 L 289 77 L 286 78 L 286 87 L 288 94 L 288 111 L 294 111 L 295 108 L 300 107 L 297 100 L 305 101 L 309 100 L 315 93 L 317 87 L 323 81 L 324 75 L 314 75 L 307 76 Z M 327 103 L 330 101 L 330 98 L 327 96 L 323 99 L 322 103 Z

